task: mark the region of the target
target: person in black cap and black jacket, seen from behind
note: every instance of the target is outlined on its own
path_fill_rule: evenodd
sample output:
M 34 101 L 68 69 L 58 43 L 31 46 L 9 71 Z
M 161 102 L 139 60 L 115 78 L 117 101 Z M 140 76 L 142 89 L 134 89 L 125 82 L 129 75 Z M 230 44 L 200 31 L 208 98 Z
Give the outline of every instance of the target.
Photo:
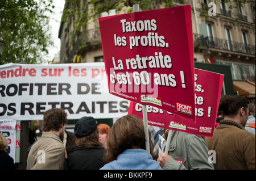
M 81 117 L 74 133 L 76 145 L 68 156 L 69 170 L 98 170 L 104 166 L 105 149 L 98 141 L 97 122 L 93 117 Z

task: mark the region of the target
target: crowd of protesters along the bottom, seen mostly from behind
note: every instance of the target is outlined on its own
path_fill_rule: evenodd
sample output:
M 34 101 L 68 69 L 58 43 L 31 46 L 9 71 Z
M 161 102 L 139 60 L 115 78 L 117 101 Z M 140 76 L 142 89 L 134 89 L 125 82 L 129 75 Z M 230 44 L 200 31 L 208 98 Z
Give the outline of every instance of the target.
M 138 116 L 123 116 L 111 128 L 97 124 L 93 117 L 81 117 L 72 133 L 65 130 L 67 113 L 52 108 L 44 113 L 44 132 L 31 146 L 27 169 L 255 170 L 255 104 L 242 96 L 225 95 L 219 111 L 221 119 L 212 138 L 163 129 L 166 140 L 171 136 L 166 154 L 158 153 L 159 143 L 151 138 L 146 151 L 143 120 Z M 5 141 L 0 134 L 0 169 L 12 169 L 13 160 L 3 154 Z M 209 150 L 216 153 L 214 161 Z

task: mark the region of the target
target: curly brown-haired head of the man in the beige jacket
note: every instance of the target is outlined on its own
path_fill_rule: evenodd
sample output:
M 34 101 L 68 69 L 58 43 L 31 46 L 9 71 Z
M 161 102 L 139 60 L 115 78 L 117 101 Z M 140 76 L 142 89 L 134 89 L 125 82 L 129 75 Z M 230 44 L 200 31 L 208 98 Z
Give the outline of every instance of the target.
M 60 108 L 51 108 L 44 112 L 43 131 L 59 131 L 61 125 L 68 123 L 67 113 Z

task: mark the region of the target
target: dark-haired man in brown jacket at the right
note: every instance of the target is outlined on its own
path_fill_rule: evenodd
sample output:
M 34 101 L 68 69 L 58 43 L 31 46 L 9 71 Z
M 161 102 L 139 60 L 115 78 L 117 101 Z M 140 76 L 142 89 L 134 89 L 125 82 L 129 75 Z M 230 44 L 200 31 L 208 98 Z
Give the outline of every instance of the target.
M 205 138 L 209 150 L 216 152 L 216 170 L 255 170 L 255 136 L 245 130 L 249 117 L 249 100 L 225 95 L 219 109 L 224 119 L 214 129 L 212 138 Z

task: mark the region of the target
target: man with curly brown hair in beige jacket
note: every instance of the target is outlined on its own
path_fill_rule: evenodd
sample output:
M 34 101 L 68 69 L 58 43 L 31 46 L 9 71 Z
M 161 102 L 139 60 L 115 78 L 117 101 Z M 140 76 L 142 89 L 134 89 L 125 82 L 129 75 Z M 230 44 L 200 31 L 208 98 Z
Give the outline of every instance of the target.
M 32 145 L 27 158 L 27 169 L 61 170 L 65 159 L 63 136 L 67 113 L 60 108 L 51 108 L 44 113 L 43 134 L 40 140 Z

